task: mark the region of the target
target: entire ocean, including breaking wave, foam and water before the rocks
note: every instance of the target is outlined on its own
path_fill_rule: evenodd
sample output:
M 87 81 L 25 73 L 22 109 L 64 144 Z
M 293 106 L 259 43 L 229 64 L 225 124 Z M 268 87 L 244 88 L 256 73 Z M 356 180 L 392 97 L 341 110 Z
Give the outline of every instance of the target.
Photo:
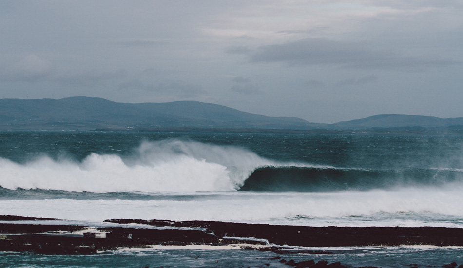
M 0 131 L 0 215 L 64 224 L 127 218 L 463 228 L 462 190 L 458 135 Z M 323 250 L 334 254 L 286 258 L 349 267 L 463 263 L 461 247 Z M 0 252 L 0 267 L 285 267 L 274 256 L 206 246 Z

